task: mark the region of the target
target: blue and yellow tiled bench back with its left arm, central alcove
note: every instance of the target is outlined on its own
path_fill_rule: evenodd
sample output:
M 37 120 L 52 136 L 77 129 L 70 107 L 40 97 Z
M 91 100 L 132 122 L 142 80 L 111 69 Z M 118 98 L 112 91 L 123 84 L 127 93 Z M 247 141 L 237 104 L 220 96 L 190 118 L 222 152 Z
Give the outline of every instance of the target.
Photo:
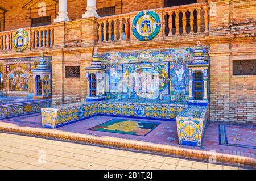
M 175 120 L 187 104 L 161 104 L 143 102 L 80 102 L 42 108 L 42 125 L 57 128 L 96 115 L 144 117 Z

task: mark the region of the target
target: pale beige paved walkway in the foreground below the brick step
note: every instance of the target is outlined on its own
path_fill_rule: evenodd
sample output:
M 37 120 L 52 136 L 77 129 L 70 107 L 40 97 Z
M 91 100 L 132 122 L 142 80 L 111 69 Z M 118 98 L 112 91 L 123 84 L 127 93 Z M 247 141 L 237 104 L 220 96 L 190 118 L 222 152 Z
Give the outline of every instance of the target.
M 243 168 L 0 133 L 0 169 L 225 170 Z

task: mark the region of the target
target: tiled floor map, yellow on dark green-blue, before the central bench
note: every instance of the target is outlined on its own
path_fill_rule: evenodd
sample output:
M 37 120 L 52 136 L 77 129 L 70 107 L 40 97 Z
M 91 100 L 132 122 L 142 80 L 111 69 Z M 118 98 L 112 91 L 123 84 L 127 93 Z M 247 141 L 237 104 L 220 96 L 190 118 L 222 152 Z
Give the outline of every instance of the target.
M 90 130 L 146 136 L 159 124 L 159 122 L 113 119 L 90 128 Z

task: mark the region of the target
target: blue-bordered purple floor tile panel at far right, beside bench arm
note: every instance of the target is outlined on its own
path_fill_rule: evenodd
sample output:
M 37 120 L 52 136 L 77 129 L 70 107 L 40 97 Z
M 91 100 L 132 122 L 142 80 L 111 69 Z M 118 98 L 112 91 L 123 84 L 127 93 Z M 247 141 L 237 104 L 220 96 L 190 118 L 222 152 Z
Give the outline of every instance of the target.
M 225 124 L 219 124 L 218 126 L 220 145 L 256 149 L 256 127 Z

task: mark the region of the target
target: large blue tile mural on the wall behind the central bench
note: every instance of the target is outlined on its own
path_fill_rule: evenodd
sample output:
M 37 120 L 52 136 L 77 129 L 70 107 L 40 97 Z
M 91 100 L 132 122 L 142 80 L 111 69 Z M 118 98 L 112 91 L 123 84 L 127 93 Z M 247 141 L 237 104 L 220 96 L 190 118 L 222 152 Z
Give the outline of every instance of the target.
M 106 67 L 108 99 L 185 102 L 189 98 L 188 62 L 196 47 L 100 54 Z M 202 47 L 209 61 L 209 47 Z

